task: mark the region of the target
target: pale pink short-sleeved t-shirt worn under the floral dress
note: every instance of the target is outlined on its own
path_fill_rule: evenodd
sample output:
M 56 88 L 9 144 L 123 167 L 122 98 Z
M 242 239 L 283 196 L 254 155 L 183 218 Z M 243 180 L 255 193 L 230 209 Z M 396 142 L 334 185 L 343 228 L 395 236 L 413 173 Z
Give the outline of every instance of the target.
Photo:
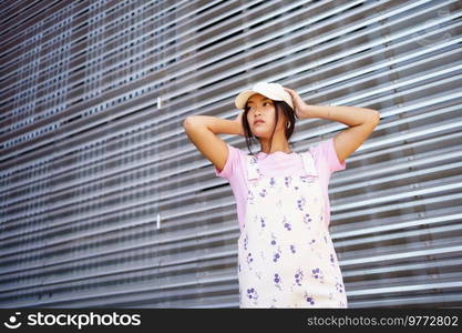
M 233 190 L 234 198 L 236 200 L 237 220 L 239 229 L 243 231 L 244 220 L 246 215 L 246 195 L 247 195 L 247 165 L 246 155 L 247 151 L 237 149 L 233 145 L 228 145 L 229 154 L 226 160 L 226 164 L 222 172 L 215 169 L 215 174 L 226 179 Z M 330 223 L 330 201 L 328 194 L 328 186 L 330 175 L 336 171 L 341 171 L 347 168 L 346 161 L 340 163 L 337 158 L 336 150 L 333 148 L 333 137 L 321 141 L 320 143 L 309 148 L 314 158 L 315 165 L 318 170 L 319 181 L 324 190 L 324 196 L 326 201 L 325 208 L 325 221 L 327 225 Z M 269 155 L 265 152 L 256 154 L 258 159 L 258 167 L 260 172 L 265 176 L 279 176 L 283 174 L 302 175 L 305 174 L 301 157 L 296 153 L 285 153 L 277 151 Z

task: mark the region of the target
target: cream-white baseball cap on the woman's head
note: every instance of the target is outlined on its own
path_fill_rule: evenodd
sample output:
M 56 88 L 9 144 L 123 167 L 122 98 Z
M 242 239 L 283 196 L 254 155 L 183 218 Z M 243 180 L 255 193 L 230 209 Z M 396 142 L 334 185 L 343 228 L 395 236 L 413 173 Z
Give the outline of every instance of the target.
M 247 100 L 256 93 L 260 93 L 274 101 L 285 101 L 294 110 L 292 98 L 287 91 L 284 90 L 283 85 L 279 83 L 268 82 L 257 82 L 250 90 L 244 90 L 240 92 L 234 101 L 236 108 L 244 109 Z

